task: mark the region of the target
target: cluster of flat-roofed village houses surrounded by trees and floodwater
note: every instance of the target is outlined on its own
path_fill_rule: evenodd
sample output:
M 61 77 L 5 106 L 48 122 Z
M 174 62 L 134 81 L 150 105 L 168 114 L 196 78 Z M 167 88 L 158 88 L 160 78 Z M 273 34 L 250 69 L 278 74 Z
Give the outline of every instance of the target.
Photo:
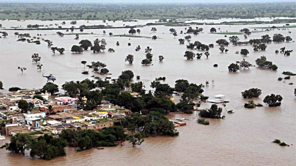
M 4 136 L 29 133 L 38 137 L 43 134 L 60 134 L 63 129 L 100 130 L 111 127 L 130 110 L 109 101 L 102 101 L 96 109 L 78 110 L 78 98 L 64 96 L 62 92 L 41 93 L 43 100 L 34 98 L 40 89 L 18 90 L 0 96 L 0 125 Z M 22 113 L 18 101 L 25 100 L 29 111 Z M 87 98 L 83 97 L 83 100 Z

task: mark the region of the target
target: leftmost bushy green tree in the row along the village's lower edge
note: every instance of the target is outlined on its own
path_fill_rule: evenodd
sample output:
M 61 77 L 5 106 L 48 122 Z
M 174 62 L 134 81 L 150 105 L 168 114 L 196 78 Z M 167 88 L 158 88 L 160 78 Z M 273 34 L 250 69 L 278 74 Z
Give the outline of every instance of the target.
M 15 136 L 11 137 L 7 150 L 13 153 L 21 152 L 25 155 L 25 150 L 29 150 L 33 143 L 34 139 L 32 136 L 24 133 L 17 133 Z

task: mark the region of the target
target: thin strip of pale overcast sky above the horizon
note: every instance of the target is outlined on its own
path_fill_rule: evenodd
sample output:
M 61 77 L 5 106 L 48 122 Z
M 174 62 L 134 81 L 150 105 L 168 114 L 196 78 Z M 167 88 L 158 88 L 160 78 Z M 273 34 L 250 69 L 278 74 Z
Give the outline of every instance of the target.
M 295 0 L 0 0 L 0 2 L 29 3 L 247 3 L 247 2 L 295 2 Z

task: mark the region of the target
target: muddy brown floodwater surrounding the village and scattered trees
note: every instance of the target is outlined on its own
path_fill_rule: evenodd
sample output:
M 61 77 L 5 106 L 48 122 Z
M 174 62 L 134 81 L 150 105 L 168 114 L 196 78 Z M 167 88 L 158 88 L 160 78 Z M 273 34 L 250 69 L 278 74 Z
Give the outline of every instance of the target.
M 222 21 L 238 21 L 240 19 L 223 19 Z M 259 19 L 257 19 L 259 20 Z M 262 18 L 260 20 L 269 20 Z M 139 22 L 123 23 L 108 22 L 110 25 L 122 26 L 139 25 L 153 22 L 155 20 L 139 20 Z M 217 20 L 193 20 L 199 22 L 215 22 Z M 30 23 L 29 23 L 30 22 Z M 55 24 L 62 21 L 1 21 L 2 27 L 9 28 L 11 26 L 26 26 L 27 24 Z M 69 25 L 70 21 L 66 21 Z M 189 21 L 191 22 L 191 21 Z M 85 24 L 86 21 L 79 20 L 78 25 Z M 102 21 L 90 21 L 90 25 L 103 24 Z M 150 137 L 146 138 L 141 146 L 132 147 L 129 143 L 125 143 L 123 147 L 108 147 L 103 150 L 86 150 L 75 153 L 73 148 L 67 148 L 67 156 L 57 157 L 50 161 L 39 159 L 31 159 L 29 153 L 25 157 L 19 154 L 9 154 L 8 151 L 0 149 L 0 165 L 94 165 L 103 163 L 104 165 L 294 165 L 296 161 L 296 97 L 294 97 L 294 88 L 296 84 L 295 76 L 291 76 L 290 80 L 278 81 L 278 77 L 284 77 L 283 71 L 296 72 L 296 54 L 293 42 L 290 43 L 272 43 L 268 44 L 266 51 L 254 52 L 251 45 L 248 46 L 228 46 L 229 52 L 220 53 L 218 45 L 215 44 L 217 39 L 227 39 L 231 35 L 208 34 L 211 27 L 215 27 L 221 31 L 237 32 L 245 27 L 263 27 L 263 26 L 282 26 L 284 24 L 264 24 L 264 25 L 199 25 L 204 28 L 204 33 L 198 36 L 191 34 L 191 41 L 200 41 L 204 44 L 214 44 L 214 48 L 210 49 L 210 56 L 207 59 L 205 55 L 201 59 L 186 60 L 183 57 L 186 44 L 179 44 L 178 39 L 184 38 L 187 34 L 178 34 L 173 37 L 169 33 L 170 28 L 175 28 L 177 32 L 185 31 L 185 26 L 145 26 L 139 28 L 141 36 L 152 37 L 157 35 L 159 39 L 152 40 L 149 38 L 129 38 L 129 37 L 110 37 L 103 35 L 103 29 L 84 30 L 85 33 L 92 35 L 80 35 L 80 40 L 88 39 L 90 41 L 96 38 L 105 38 L 107 41 L 106 48 L 114 48 L 114 53 L 107 50 L 102 53 L 92 53 L 92 51 L 84 51 L 83 54 L 72 54 L 70 49 L 73 44 L 80 41 L 74 40 L 75 35 L 65 35 L 58 37 L 57 30 L 27 30 L 18 31 L 19 33 L 29 33 L 31 36 L 42 34 L 44 39 L 53 41 L 54 47 L 63 47 L 66 49 L 65 54 L 53 55 L 47 43 L 41 41 L 40 45 L 27 42 L 16 42 L 18 39 L 13 34 L 16 30 L 6 30 L 8 37 L 0 39 L 0 80 L 4 84 L 4 88 L 17 86 L 21 88 L 40 88 L 46 83 L 46 79 L 42 77 L 42 73 L 52 73 L 56 76 L 56 84 L 61 86 L 65 81 L 83 80 L 86 78 L 93 79 L 94 73 L 89 70 L 89 75 L 83 75 L 82 60 L 90 64 L 92 61 L 100 61 L 107 65 L 112 78 L 116 78 L 123 70 L 132 70 L 135 76 L 141 76 L 141 81 L 145 83 L 146 89 L 150 88 L 150 82 L 156 77 L 165 76 L 164 83 L 174 86 L 177 79 L 187 79 L 190 83 L 205 83 L 209 81 L 210 85 L 204 88 L 204 95 L 213 98 L 216 94 L 225 94 L 226 100 L 230 101 L 226 108 L 233 109 L 234 114 L 226 114 L 225 119 L 210 119 L 210 125 L 201 125 L 195 122 L 198 118 L 196 112 L 191 115 L 176 114 L 169 115 L 169 118 L 185 117 L 192 120 L 186 120 L 187 125 L 178 127 L 179 136 L 177 137 Z M 290 23 L 295 25 L 295 23 Z M 157 32 L 152 33 L 151 27 L 156 27 Z M 196 27 L 196 26 L 193 26 Z M 240 41 L 246 41 L 251 38 L 261 38 L 262 35 L 280 33 L 283 36 L 291 36 L 296 39 L 296 29 L 288 30 L 272 30 L 270 32 L 252 33 L 248 39 L 244 39 L 243 35 L 238 35 Z M 4 30 L 3 30 L 4 31 Z M 62 31 L 66 33 L 65 30 Z M 74 33 L 78 33 L 74 30 Z M 106 29 L 106 34 L 128 34 L 128 29 Z M 46 36 L 44 36 L 46 34 Z M 137 34 L 138 35 L 138 34 Z M 116 46 L 119 41 L 120 46 Z M 131 43 L 131 46 L 128 46 Z M 137 45 L 141 46 L 140 51 L 135 51 Z M 145 58 L 144 49 L 150 46 L 153 54 L 153 65 L 142 66 L 141 61 Z M 294 49 L 291 56 L 283 54 L 275 54 L 274 51 L 281 47 L 286 49 Z M 250 52 L 249 56 L 243 57 L 235 54 L 237 50 L 247 48 Z M 197 51 L 204 52 L 204 51 Z M 42 71 L 38 71 L 36 64 L 31 62 L 31 54 L 39 53 L 42 57 L 40 63 L 43 64 Z M 134 55 L 134 62 L 129 65 L 125 62 L 128 54 Z M 160 63 L 158 56 L 163 55 L 164 61 Z M 278 66 L 277 71 L 267 69 L 259 69 L 251 67 L 250 70 L 240 70 L 238 73 L 229 73 L 227 66 L 236 61 L 245 58 L 248 62 L 255 64 L 255 59 L 265 55 L 267 60 L 272 61 Z M 218 64 L 218 68 L 214 68 L 213 64 Z M 17 66 L 27 68 L 22 74 Z M 88 69 L 85 69 L 88 70 Z M 96 75 L 101 78 L 106 76 Z M 214 85 L 212 86 L 212 80 Z M 134 79 L 134 81 L 137 81 Z M 289 85 L 288 83 L 294 83 Z M 280 94 L 283 97 L 280 107 L 257 107 L 254 109 L 244 108 L 244 103 L 248 100 L 241 97 L 241 93 L 249 88 L 259 88 L 262 95 L 254 99 L 255 103 L 262 103 L 268 94 Z M 222 107 L 221 104 L 218 104 Z M 203 103 L 202 108 L 209 108 L 210 103 Z M 193 119 L 193 117 L 195 119 Z M 290 147 L 280 147 L 271 143 L 274 139 L 280 139 L 287 144 L 294 144 Z M 1 140 L 3 144 L 8 140 Z

